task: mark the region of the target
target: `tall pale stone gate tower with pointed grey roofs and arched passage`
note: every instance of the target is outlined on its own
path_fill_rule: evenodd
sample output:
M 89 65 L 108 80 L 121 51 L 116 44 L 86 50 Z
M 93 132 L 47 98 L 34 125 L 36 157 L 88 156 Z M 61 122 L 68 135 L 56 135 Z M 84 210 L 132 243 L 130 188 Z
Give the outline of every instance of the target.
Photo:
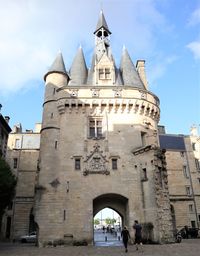
M 35 221 L 40 244 L 93 241 L 93 217 L 105 207 L 131 230 L 154 225 L 170 241 L 165 156 L 159 149 L 159 99 L 148 90 L 144 61 L 124 48 L 116 67 L 111 32 L 100 13 L 91 67 L 79 48 L 69 72 L 59 53 L 45 75 Z

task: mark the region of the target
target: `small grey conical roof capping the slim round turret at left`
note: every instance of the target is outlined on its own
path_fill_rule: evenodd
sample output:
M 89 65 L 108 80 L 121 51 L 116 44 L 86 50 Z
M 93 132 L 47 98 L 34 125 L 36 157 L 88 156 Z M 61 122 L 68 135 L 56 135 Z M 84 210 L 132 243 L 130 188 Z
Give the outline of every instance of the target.
M 66 68 L 65 68 L 65 63 L 64 63 L 64 60 L 63 60 L 63 56 L 62 56 L 62 53 L 60 51 L 59 51 L 56 59 L 54 60 L 53 64 L 51 65 L 49 71 L 44 75 L 44 80 L 45 81 L 46 81 L 46 77 L 51 73 L 60 73 L 60 74 L 68 76 Z

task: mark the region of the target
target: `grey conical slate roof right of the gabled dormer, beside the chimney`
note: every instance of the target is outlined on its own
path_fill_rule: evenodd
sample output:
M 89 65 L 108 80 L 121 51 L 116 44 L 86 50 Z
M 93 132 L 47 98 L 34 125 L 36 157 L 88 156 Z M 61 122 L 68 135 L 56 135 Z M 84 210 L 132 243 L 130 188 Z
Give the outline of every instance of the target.
M 139 74 L 128 54 L 128 51 L 123 47 L 122 57 L 121 57 L 121 66 L 122 78 L 124 85 L 134 86 L 141 89 L 145 89 L 144 84 L 142 83 Z

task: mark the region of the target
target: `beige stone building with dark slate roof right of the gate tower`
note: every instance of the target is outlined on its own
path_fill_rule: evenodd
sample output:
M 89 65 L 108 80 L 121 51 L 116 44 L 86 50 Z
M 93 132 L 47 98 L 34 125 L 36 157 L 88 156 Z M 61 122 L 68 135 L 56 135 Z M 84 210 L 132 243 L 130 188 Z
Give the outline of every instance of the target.
M 197 127 L 191 134 L 160 135 L 166 149 L 169 194 L 174 229 L 199 228 L 200 224 L 200 137 Z

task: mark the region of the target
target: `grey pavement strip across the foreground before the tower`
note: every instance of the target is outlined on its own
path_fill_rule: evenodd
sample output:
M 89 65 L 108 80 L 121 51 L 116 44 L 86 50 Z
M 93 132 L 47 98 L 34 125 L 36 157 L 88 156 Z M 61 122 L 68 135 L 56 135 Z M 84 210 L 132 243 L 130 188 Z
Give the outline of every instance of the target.
M 121 246 L 68 246 L 38 248 L 31 244 L 0 243 L 0 256 L 197 256 L 200 255 L 200 239 L 183 240 L 180 244 L 143 245 L 139 251 L 134 245 L 128 253 Z

